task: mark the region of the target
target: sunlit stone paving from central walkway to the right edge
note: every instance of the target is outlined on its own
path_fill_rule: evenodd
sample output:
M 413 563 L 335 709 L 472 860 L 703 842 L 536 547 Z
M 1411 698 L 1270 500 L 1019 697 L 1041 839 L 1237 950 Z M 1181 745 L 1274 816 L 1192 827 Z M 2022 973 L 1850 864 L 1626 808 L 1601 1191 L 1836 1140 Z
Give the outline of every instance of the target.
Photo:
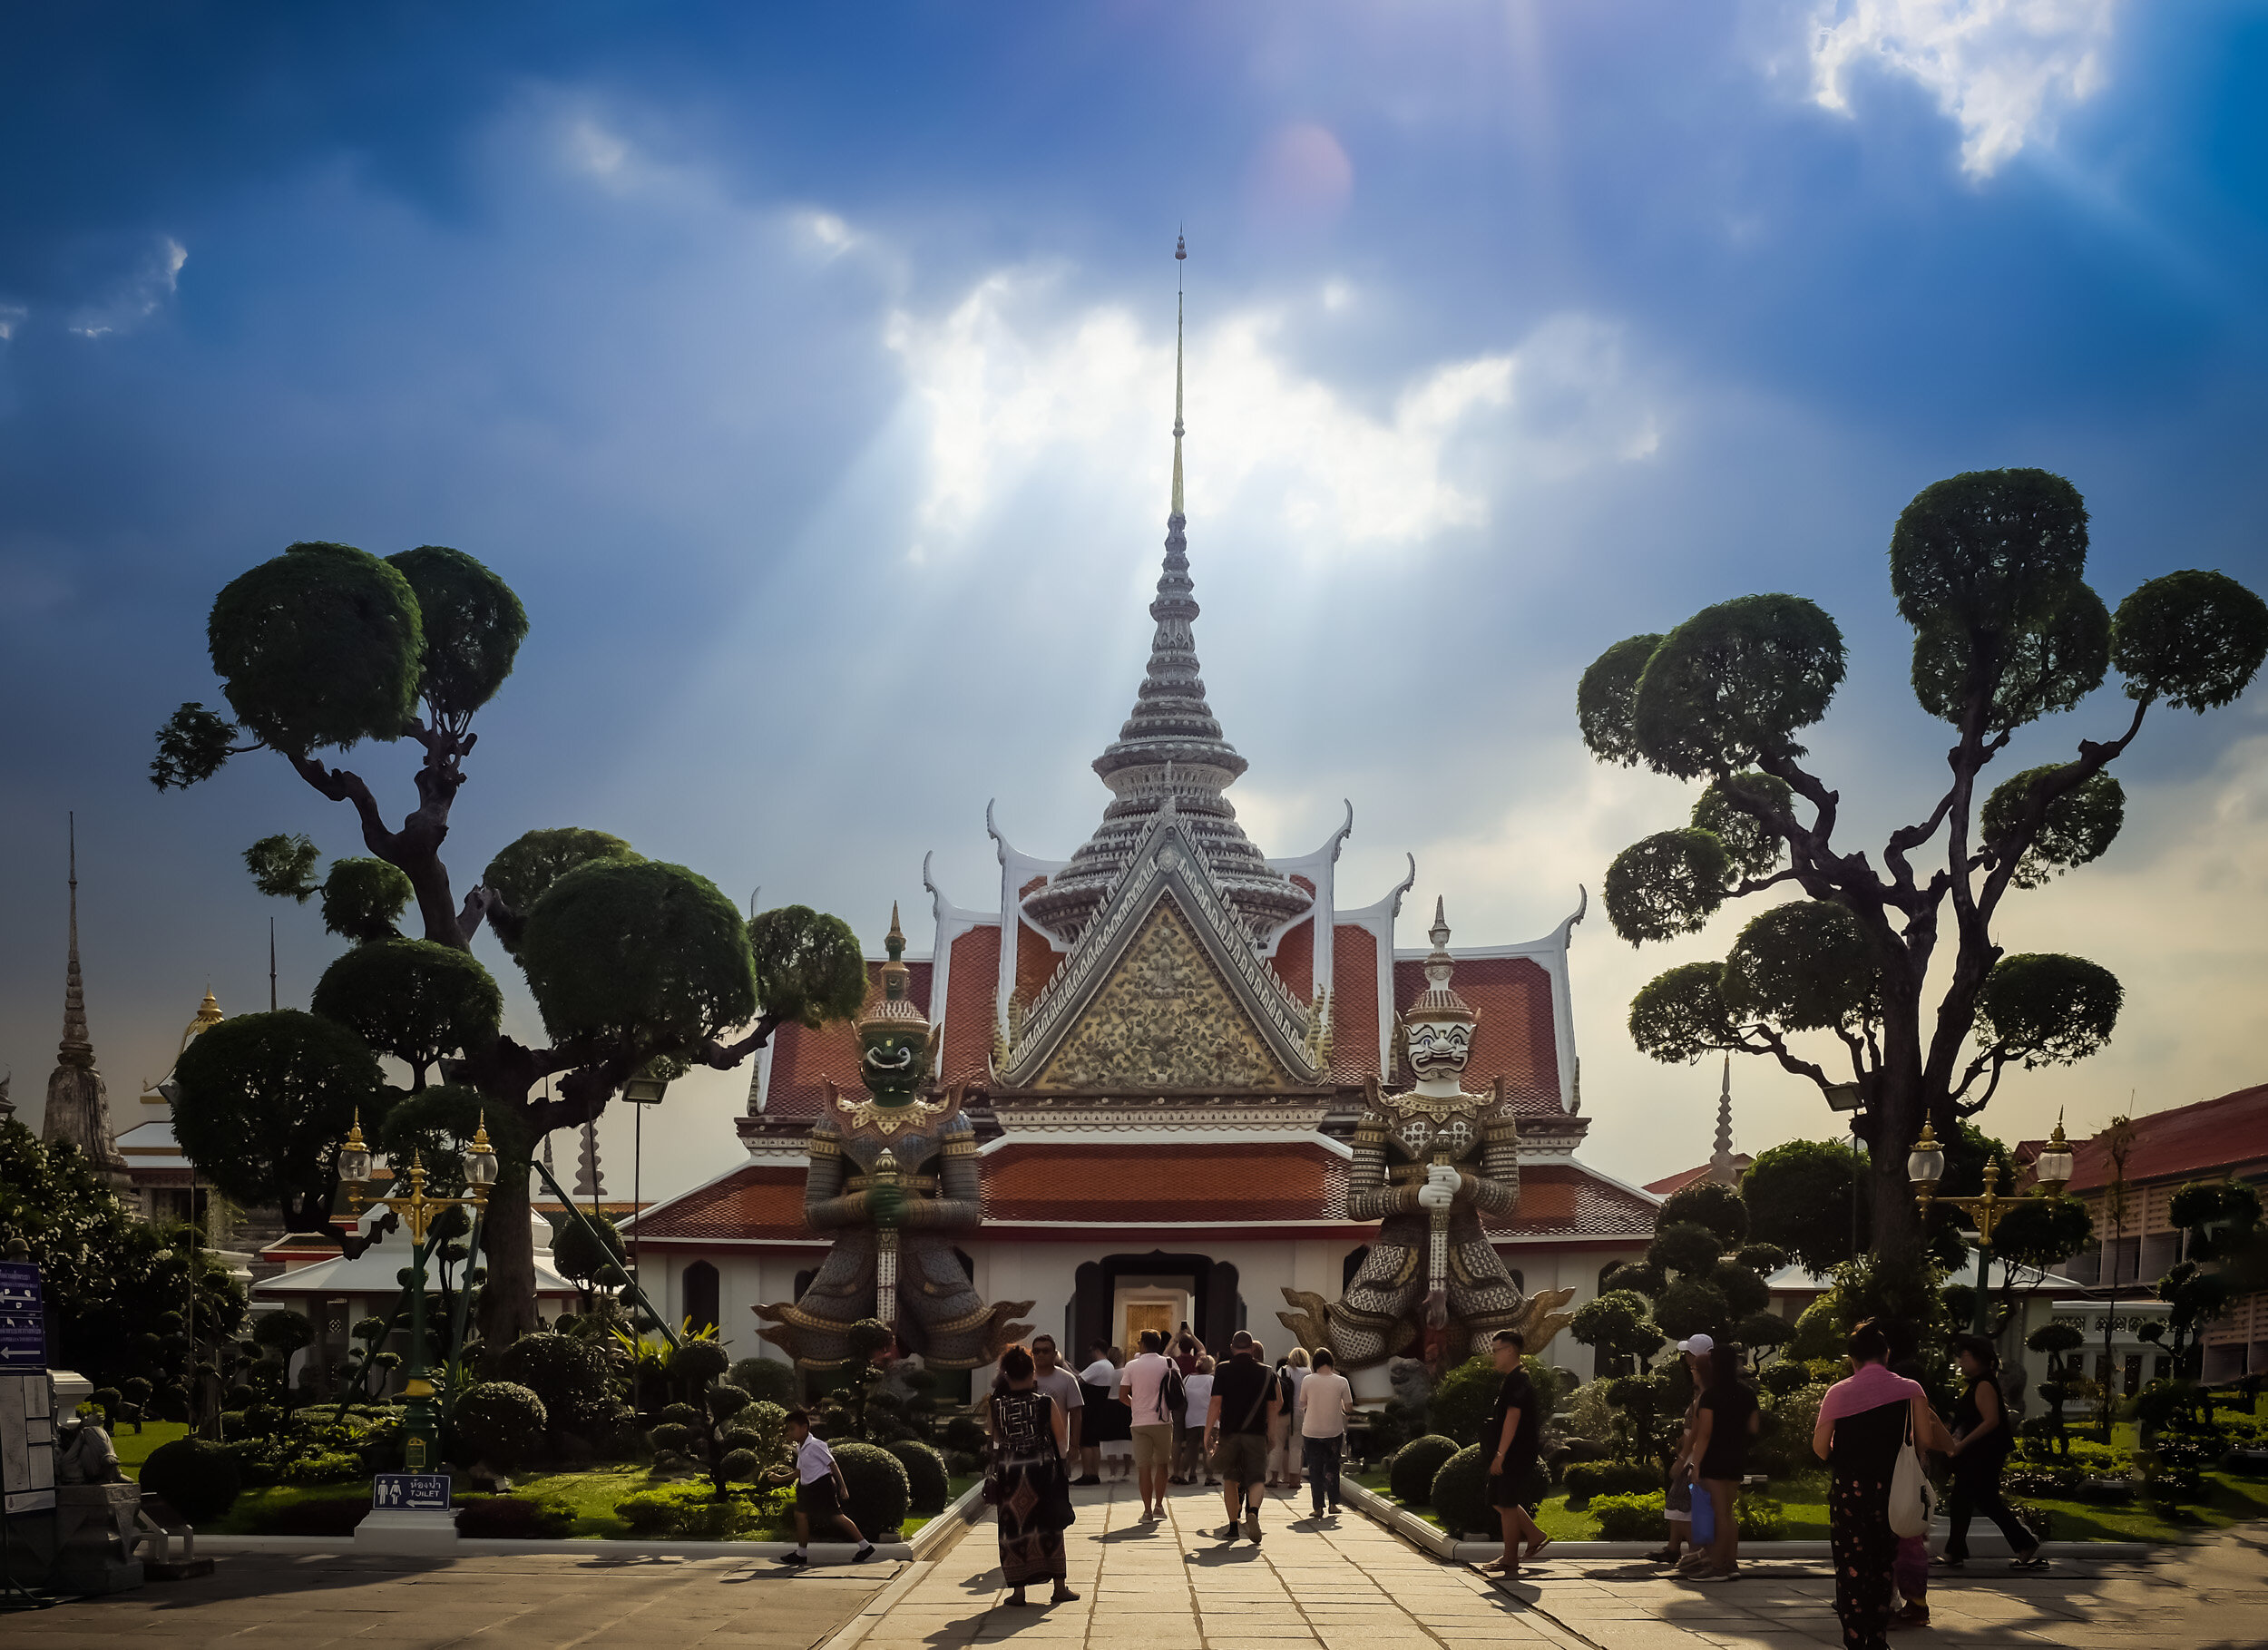
M 1510 1587 L 1440 1564 L 1359 1514 L 1309 1523 L 1270 1500 L 1263 1541 L 1213 1537 L 1218 1491 L 1177 1489 L 1143 1525 L 1116 1487 L 1082 1489 L 1070 1530 L 1075 1605 L 1009 1609 L 982 1521 L 873 1625 L 860 1650 L 953 1650 L 1030 1639 L 1046 1650 L 1812 1650 L 1839 1645 L 1826 1564 L 1751 1564 L 1724 1587 L 1624 1559 L 1545 1559 Z M 1964 1650 L 2252 1650 L 2268 1643 L 2268 1534 L 2177 1559 L 1978 1566 L 1932 1584 L 1932 1625 L 1894 1643 Z

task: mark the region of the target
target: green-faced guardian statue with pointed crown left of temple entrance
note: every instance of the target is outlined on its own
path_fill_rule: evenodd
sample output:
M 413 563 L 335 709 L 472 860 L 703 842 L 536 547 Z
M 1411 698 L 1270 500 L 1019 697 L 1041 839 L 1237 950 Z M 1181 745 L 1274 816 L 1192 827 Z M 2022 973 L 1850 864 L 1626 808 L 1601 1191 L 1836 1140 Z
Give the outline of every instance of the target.
M 803 1217 L 837 1233 L 835 1247 L 794 1305 L 755 1308 L 762 1337 L 801 1369 L 844 1364 L 846 1333 L 862 1317 L 889 1324 L 898 1349 L 930 1369 L 989 1364 L 1032 1330 L 1007 1321 L 1030 1312 L 1030 1301 L 984 1305 L 953 1253 L 953 1233 L 982 1219 L 978 1140 L 957 1086 L 921 1097 L 937 1040 L 928 1015 L 905 1000 L 903 952 L 891 909 L 882 1000 L 857 1022 L 866 1099 L 846 1099 L 828 1083 L 812 1124 Z

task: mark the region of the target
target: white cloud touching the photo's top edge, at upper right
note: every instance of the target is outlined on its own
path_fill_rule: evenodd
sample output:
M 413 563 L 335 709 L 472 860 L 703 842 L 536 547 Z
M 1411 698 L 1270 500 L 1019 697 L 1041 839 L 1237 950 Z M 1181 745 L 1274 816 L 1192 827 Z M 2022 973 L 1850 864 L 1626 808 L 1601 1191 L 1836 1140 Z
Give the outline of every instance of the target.
M 2118 0 L 1839 0 L 1812 11 L 1812 95 L 1851 111 L 1855 68 L 1878 63 L 1937 93 L 1962 127 L 1962 170 L 1991 177 L 2046 138 L 2057 102 L 2102 88 Z

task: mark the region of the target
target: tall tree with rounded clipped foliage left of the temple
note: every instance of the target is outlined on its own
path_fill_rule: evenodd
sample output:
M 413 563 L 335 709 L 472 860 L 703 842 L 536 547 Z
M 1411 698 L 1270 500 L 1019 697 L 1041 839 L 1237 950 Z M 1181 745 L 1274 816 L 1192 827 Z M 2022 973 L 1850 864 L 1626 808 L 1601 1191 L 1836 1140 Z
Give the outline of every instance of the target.
M 640 1072 L 730 1070 L 780 1024 L 846 1020 L 866 997 L 857 936 L 841 920 L 792 907 L 744 922 L 703 877 L 640 859 L 631 843 L 596 830 L 526 832 L 458 898 L 442 845 L 479 741 L 472 721 L 510 678 L 526 630 L 519 596 L 463 551 L 426 544 L 381 560 L 347 544 L 293 544 L 213 601 L 206 641 L 229 714 L 181 705 L 150 766 L 163 791 L 209 780 L 236 755 L 270 750 L 320 796 L 354 809 L 367 859 L 336 861 L 320 884 L 304 836 L 270 836 L 245 854 L 265 893 L 304 902 L 320 891 L 327 927 L 361 947 L 324 977 L 320 1022 L 363 1058 L 376 1047 L 406 1061 L 413 1083 L 438 1065 L 449 1083 L 479 1095 L 492 1136 L 522 1142 L 594 1120 Z M 422 750 L 415 805 L 399 823 L 361 773 L 333 766 L 336 752 L 365 739 L 408 739 Z M 397 920 L 408 909 L 415 938 L 404 941 Z M 494 981 L 469 961 L 483 925 L 524 968 L 549 1047 L 501 1031 Z M 463 961 L 447 963 L 442 950 Z M 222 1072 L 227 1045 L 211 1038 L 191 1045 L 191 1056 L 206 1054 L 211 1065 L 211 1129 L 191 1145 L 191 1124 L 184 1147 L 215 1165 L 229 1151 L 245 1154 L 254 1165 L 245 1201 L 284 1197 L 293 1219 L 320 1219 L 349 1111 L 338 1097 L 374 1106 L 374 1061 L 367 1083 L 329 1090 L 322 1126 L 336 1122 L 336 1131 L 320 1142 L 313 1133 L 256 1142 L 243 1124 L 274 1095 L 256 1090 L 249 1072 Z M 481 1294 L 481 1330 L 499 1346 L 535 1326 L 526 1215 L 526 1176 L 501 1174 L 490 1194 L 490 1283 Z

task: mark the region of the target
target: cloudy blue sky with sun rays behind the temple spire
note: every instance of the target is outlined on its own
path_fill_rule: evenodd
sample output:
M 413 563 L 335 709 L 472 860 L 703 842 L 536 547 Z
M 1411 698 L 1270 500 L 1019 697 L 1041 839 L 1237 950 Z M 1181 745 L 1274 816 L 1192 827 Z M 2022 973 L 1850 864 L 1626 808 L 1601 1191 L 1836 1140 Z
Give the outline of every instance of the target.
M 238 850 L 347 820 L 274 762 L 143 777 L 213 700 L 204 610 L 290 539 L 456 544 L 533 635 L 449 859 L 615 830 L 871 941 L 982 811 L 1068 854 L 1125 714 L 1166 501 L 1186 227 L 1188 514 L 1232 793 L 1270 852 L 1352 798 L 1347 900 L 1417 854 L 1461 941 L 1545 932 L 1669 782 L 1606 773 L 1608 641 L 1751 589 L 1842 621 L 1814 752 L 1864 834 L 1926 811 L 1882 548 L 1957 469 L 2043 465 L 2109 601 L 2261 544 L 2268 11 L 1839 5 L 18 9 L 0 61 L 0 1065 L 52 1065 L 64 811 L 91 1018 L 134 1113 L 206 979 L 333 943 Z M 2046 759 L 2114 696 L 2041 728 Z M 399 750 L 354 766 L 406 807 Z M 2012 947 L 2121 972 L 2057 1106 L 2259 1081 L 2268 696 L 2159 716 L 2112 859 Z M 1590 1158 L 1706 1156 L 1712 1072 L 1631 990 L 1728 916 L 1576 936 Z M 1406 943 L 1415 943 L 1411 927 Z M 488 959 L 508 975 L 501 956 Z M 533 1024 L 526 1027 L 533 1031 Z M 1826 1133 L 1746 1063 L 1742 1145 Z M 649 1190 L 742 1079 L 674 1095 Z M 624 1158 L 610 1142 L 610 1156 Z

